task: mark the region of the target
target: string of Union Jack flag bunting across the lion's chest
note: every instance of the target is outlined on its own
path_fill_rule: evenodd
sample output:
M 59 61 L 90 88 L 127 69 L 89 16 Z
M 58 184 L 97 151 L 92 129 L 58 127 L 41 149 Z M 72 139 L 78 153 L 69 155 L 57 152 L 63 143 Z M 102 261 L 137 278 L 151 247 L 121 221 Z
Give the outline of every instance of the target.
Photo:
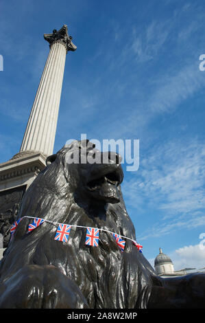
M 119 249 L 121 250 L 121 252 L 123 252 L 123 249 L 125 247 L 125 241 L 123 240 L 123 238 L 132 241 L 132 244 L 135 245 L 135 247 L 137 247 L 139 252 L 142 252 L 142 249 L 143 249 L 143 246 L 140 245 L 139 243 L 137 243 L 134 239 L 129 238 L 128 236 L 121 236 L 121 234 L 116 234 L 116 233 L 106 230 L 106 229 L 101 229 L 101 228 L 99 229 L 96 227 L 87 227 L 84 225 L 70 225 L 70 224 L 65 224 L 65 223 L 59 223 L 59 222 L 54 222 L 54 221 L 50 221 L 47 219 L 40 219 L 36 216 L 23 216 L 23 218 L 15 221 L 10 228 L 10 232 L 11 232 L 12 236 L 14 235 L 14 232 L 16 231 L 17 225 L 19 225 L 20 221 L 24 218 L 34 219 L 33 223 L 29 224 L 27 233 L 32 232 L 32 230 L 36 229 L 36 227 L 38 227 L 39 225 L 41 225 L 44 222 L 56 225 L 57 230 L 56 230 L 56 236 L 55 236 L 54 240 L 57 240 L 57 241 L 62 241 L 62 242 L 67 243 L 68 238 L 69 238 L 69 234 L 71 231 L 71 227 L 81 227 L 81 228 L 86 228 L 86 242 L 85 242 L 86 245 L 92 245 L 92 246 L 97 247 L 98 242 L 99 242 L 99 231 L 104 231 L 104 232 L 108 232 L 108 233 L 112 234 L 112 236 L 114 236 L 114 239 L 115 239 L 117 245 L 119 246 Z

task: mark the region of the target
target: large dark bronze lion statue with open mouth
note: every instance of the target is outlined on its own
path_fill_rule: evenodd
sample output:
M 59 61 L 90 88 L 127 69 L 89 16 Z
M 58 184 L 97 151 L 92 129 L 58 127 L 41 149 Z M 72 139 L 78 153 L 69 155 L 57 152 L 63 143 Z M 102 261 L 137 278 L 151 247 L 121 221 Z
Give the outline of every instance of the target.
M 80 162 L 69 163 L 73 155 Z M 99 163 L 82 157 L 98 156 Z M 0 264 L 1 309 L 145 309 L 204 307 L 204 274 L 160 278 L 135 241 L 121 182 L 120 157 L 73 142 L 47 158 L 47 167 L 21 201 L 21 219 Z M 28 233 L 38 217 L 45 222 Z M 57 225 L 73 225 L 67 243 L 54 240 Z M 97 227 L 99 245 L 85 244 Z M 109 232 L 130 237 L 123 252 Z

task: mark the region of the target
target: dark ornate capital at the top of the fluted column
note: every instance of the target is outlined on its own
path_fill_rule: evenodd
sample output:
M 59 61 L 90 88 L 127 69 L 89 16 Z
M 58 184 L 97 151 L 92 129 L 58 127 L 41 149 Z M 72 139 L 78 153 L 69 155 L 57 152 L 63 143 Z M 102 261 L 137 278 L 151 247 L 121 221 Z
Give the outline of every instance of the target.
M 68 27 L 67 25 L 63 25 L 60 30 L 53 30 L 52 34 L 44 34 L 44 39 L 45 41 L 48 41 L 50 44 L 50 47 L 53 43 L 59 42 L 62 43 L 67 49 L 67 52 L 71 50 L 72 52 L 75 51 L 77 48 L 73 43 L 72 43 L 72 36 L 69 36 L 68 33 Z

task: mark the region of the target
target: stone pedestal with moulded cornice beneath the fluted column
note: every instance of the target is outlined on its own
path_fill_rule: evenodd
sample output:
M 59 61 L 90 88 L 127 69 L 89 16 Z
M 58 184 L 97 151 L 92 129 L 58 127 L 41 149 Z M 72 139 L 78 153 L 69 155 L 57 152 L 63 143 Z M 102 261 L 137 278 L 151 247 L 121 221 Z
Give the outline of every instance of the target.
M 10 227 L 16 221 L 23 194 L 45 168 L 46 158 L 42 153 L 29 151 L 0 164 L 0 233 L 4 248 L 10 241 Z

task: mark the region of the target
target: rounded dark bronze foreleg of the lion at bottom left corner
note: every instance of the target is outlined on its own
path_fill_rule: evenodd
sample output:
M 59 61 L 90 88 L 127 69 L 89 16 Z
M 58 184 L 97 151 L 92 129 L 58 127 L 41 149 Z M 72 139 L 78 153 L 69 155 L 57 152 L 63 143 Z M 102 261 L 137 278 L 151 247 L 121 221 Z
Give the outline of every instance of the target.
M 75 282 L 51 265 L 23 267 L 0 285 L 1 309 L 88 307 Z

